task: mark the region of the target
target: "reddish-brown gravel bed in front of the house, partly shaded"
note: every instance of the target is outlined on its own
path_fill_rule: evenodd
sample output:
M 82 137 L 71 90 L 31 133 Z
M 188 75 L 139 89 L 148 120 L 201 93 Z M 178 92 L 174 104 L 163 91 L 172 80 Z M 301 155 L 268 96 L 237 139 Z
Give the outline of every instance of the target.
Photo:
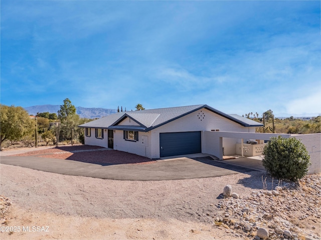
M 35 150 L 26 153 L 16 154 L 15 156 L 32 155 L 46 158 L 67 159 L 106 165 L 126 163 L 149 164 L 155 162 L 150 158 L 139 156 L 136 154 L 118 150 L 107 150 L 106 148 L 103 148 L 101 146 L 89 145 L 58 146 L 55 148 Z

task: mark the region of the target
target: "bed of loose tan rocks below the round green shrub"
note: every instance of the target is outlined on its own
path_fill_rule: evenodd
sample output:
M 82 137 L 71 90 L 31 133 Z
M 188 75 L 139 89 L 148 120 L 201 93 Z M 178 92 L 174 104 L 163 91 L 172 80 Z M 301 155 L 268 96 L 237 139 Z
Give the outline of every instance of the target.
M 321 239 L 320 229 L 308 223 L 320 226 L 320 181 L 319 175 L 308 175 L 299 184 L 282 182 L 251 196 L 225 196 L 216 205 L 214 223 L 252 239 Z

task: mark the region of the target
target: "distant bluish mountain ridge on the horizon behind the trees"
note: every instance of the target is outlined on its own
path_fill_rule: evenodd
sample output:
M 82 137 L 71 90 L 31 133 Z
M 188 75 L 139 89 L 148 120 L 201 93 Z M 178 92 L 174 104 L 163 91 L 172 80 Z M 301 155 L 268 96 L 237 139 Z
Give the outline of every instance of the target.
M 29 112 L 30 115 L 36 115 L 37 112 L 47 112 L 47 111 L 49 113 L 57 113 L 57 111 L 60 109 L 60 105 L 47 104 L 47 105 L 27 106 L 24 108 L 26 111 Z M 76 113 L 82 118 L 91 118 L 91 119 L 100 118 L 115 112 L 117 112 L 117 109 L 76 106 Z

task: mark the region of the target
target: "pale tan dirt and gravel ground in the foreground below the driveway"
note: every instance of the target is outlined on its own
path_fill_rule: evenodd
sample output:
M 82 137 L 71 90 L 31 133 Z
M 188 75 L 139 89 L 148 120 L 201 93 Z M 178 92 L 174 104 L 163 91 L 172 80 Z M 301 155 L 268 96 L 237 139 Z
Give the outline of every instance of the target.
M 0 166 L 1 239 L 244 239 L 206 214 L 226 184 L 262 189 L 262 172 L 120 181 Z

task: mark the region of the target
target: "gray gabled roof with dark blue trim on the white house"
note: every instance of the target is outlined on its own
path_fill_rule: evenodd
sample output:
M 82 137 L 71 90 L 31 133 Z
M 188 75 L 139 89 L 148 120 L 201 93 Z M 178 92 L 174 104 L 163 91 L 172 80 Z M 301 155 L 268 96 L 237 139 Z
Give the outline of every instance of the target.
M 221 116 L 224 116 L 234 122 L 237 122 L 243 126 L 262 126 L 263 124 L 253 121 L 251 119 L 239 116 L 237 114 L 226 114 L 206 104 L 157 108 L 140 111 L 126 111 L 117 112 L 100 119 L 90 121 L 79 125 L 79 127 L 93 127 L 93 128 L 109 128 L 109 129 L 131 129 L 140 131 L 149 131 L 161 125 L 164 125 L 170 121 L 185 116 L 191 112 L 197 111 L 201 108 L 206 108 L 212 112 L 215 112 Z M 126 117 L 131 118 L 137 122 L 140 126 L 132 125 L 118 125 Z

